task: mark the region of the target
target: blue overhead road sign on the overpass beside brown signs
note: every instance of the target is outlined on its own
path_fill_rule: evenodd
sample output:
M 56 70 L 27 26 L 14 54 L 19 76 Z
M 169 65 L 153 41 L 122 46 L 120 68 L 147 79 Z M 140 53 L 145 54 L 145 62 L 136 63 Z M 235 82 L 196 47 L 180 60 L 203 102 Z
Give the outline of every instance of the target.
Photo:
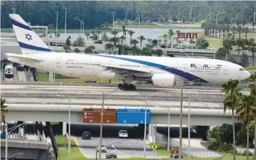
M 145 110 L 117 109 L 117 123 L 145 124 Z M 146 110 L 146 124 L 150 124 L 150 110 Z

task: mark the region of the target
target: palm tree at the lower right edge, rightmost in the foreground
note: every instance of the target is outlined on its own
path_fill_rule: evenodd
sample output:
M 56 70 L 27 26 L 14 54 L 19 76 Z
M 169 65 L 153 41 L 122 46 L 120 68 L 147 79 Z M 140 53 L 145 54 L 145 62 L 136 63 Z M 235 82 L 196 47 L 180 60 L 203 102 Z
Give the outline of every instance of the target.
M 255 95 L 242 95 L 239 98 L 236 109 L 239 116 L 244 120 L 247 126 L 247 160 L 249 160 L 249 124 L 252 117 L 253 108 L 256 107 Z

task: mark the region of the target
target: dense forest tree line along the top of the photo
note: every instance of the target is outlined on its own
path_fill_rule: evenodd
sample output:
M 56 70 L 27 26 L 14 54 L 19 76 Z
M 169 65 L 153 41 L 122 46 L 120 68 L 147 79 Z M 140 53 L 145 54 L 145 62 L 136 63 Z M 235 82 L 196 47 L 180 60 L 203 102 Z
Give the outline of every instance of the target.
M 111 11 L 115 11 L 115 19 L 134 21 L 138 14 L 141 22 L 167 22 L 168 19 L 177 21 L 208 21 L 208 14 L 213 18 L 218 16 L 218 23 L 231 23 L 236 14 L 237 22 L 253 22 L 255 11 L 254 1 L 2 1 L 1 28 L 11 28 L 9 14 L 12 9 L 20 14 L 31 25 L 53 24 L 56 26 L 56 11 L 58 11 L 58 28 L 64 28 L 67 11 L 67 29 L 79 29 L 80 22 L 75 19 L 84 19 L 84 27 L 92 29 L 101 24 L 112 24 Z M 242 17 L 243 15 L 243 17 Z M 127 17 L 127 19 L 126 19 Z

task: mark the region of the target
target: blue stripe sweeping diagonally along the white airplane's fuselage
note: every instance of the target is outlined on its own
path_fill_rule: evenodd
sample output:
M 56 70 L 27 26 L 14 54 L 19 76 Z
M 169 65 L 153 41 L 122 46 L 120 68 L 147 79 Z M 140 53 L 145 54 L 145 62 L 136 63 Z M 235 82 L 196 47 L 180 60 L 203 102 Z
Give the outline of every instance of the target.
M 94 54 L 92 54 L 94 55 Z M 108 58 L 114 58 L 114 59 L 118 59 L 118 60 L 126 60 L 126 61 L 130 61 L 130 62 L 136 62 L 136 63 L 140 63 L 142 65 L 149 65 L 151 67 L 156 67 L 156 66 L 159 66 L 161 70 L 165 70 L 167 72 L 171 72 L 175 75 L 179 75 L 180 77 L 183 77 L 185 78 L 186 80 L 190 80 L 190 81 L 196 81 L 196 82 L 204 82 L 204 83 L 208 83 L 208 81 L 206 80 L 203 80 L 202 78 L 198 77 L 198 76 L 195 76 L 195 75 L 192 75 L 188 72 L 184 72 L 182 70 L 177 70 L 175 68 L 172 68 L 172 67 L 168 67 L 168 66 L 165 66 L 165 65 L 159 65 L 159 64 L 156 64 L 154 62 L 146 62 L 144 60 L 133 60 L 131 58 L 126 58 L 126 57 L 115 57 L 115 56 L 110 56 L 110 55 L 96 55 L 96 56 L 100 56 L 100 57 L 108 57 Z

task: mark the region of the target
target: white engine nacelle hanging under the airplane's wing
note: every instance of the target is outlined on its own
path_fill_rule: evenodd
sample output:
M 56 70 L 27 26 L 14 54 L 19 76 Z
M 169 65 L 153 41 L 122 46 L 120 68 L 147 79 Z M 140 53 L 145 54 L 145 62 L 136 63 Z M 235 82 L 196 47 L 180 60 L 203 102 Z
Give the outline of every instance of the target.
M 151 77 L 151 83 L 161 88 L 170 88 L 175 85 L 175 75 L 167 73 L 155 74 Z

